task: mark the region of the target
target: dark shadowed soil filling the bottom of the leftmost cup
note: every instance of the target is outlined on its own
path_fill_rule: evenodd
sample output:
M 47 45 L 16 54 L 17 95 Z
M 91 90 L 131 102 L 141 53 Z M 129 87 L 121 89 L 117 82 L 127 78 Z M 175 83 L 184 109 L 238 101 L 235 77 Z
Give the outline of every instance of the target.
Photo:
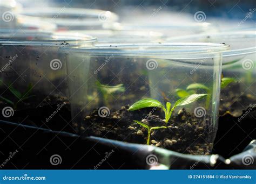
M 66 131 L 75 133 L 71 125 L 71 114 L 69 102 L 63 96 L 48 96 L 45 100 L 35 107 L 36 99 L 29 99 L 29 102 L 20 103 L 17 109 L 14 109 L 14 115 L 11 117 L 3 117 L 0 113 L 0 118 L 4 121 L 15 122 L 24 125 L 37 126 L 56 131 Z M 32 103 L 33 102 L 33 103 Z M 64 104 L 59 108 L 61 104 Z M 10 104 L 0 101 L 0 109 L 4 107 L 12 107 Z M 33 107 L 33 108 L 32 108 Z M 49 118 L 59 108 L 60 110 Z M 46 121 L 46 118 L 48 120 Z M 70 123 L 70 124 L 69 124 Z

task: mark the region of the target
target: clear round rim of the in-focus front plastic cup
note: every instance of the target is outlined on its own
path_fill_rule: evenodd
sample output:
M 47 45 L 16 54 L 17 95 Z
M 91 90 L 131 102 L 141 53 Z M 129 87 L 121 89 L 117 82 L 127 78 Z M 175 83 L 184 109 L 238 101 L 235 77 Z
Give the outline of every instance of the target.
M 90 55 L 161 56 L 171 58 L 212 58 L 230 49 L 229 45 L 212 43 L 142 43 L 142 44 L 96 44 L 93 46 L 66 47 L 62 52 L 86 53 Z

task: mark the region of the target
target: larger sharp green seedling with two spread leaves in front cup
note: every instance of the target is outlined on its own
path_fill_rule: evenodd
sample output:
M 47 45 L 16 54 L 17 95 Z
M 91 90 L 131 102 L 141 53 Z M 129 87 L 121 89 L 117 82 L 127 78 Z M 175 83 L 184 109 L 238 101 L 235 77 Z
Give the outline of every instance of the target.
M 131 107 L 129 108 L 129 111 L 138 110 L 138 109 L 147 108 L 147 107 L 158 107 L 164 110 L 164 113 L 165 113 L 164 121 L 168 123 L 169 119 L 171 118 L 172 112 L 176 107 L 195 102 L 205 97 L 206 95 L 207 94 L 193 94 L 193 95 L 182 97 L 174 103 L 172 108 L 171 108 L 170 102 L 166 103 L 166 108 L 165 108 L 164 105 L 161 104 L 161 102 L 154 100 L 152 98 L 145 98 L 143 100 L 140 100 L 132 104 Z

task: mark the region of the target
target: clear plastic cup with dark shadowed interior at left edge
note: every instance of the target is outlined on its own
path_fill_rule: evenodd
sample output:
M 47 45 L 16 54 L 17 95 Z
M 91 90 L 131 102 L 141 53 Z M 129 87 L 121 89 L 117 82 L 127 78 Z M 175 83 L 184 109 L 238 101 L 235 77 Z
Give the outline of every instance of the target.
M 1 109 L 30 109 L 25 112 L 44 105 L 68 103 L 66 63 L 58 50 L 96 41 L 90 36 L 28 30 L 5 30 L 0 32 L 0 38 Z

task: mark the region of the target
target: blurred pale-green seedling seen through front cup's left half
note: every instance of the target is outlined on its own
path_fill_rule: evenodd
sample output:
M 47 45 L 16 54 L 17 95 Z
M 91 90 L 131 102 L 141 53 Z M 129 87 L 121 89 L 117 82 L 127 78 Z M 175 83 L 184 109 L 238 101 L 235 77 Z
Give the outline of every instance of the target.
M 105 104 L 108 104 L 110 99 L 113 98 L 114 94 L 122 93 L 125 91 L 124 84 L 117 84 L 116 86 L 107 86 L 97 81 L 96 86 L 99 88 L 100 93 L 102 93 Z

